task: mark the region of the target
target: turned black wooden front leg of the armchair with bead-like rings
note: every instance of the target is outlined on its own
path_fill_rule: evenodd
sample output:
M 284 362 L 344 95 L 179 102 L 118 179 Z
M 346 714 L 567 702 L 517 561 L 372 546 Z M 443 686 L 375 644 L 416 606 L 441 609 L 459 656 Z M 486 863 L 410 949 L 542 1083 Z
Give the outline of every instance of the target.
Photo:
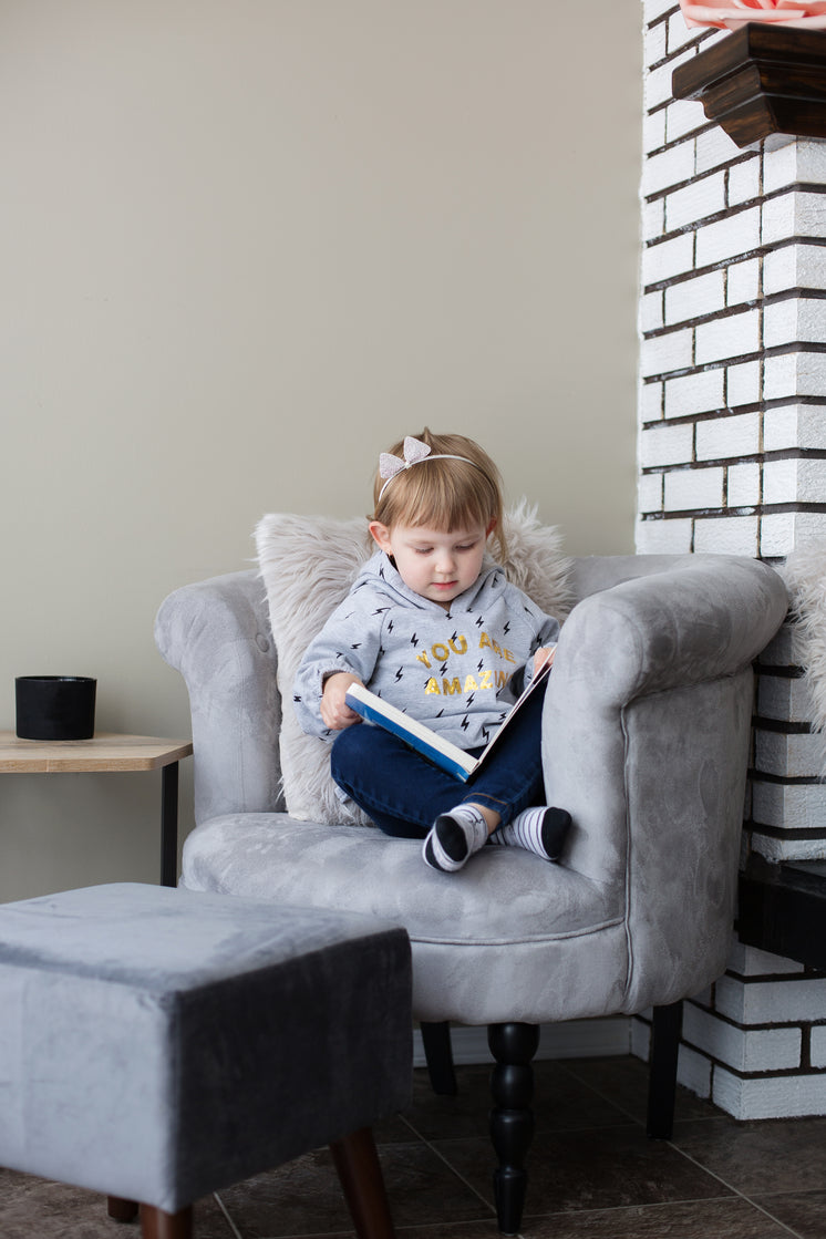
M 490 1075 L 490 1139 L 499 1158 L 493 1191 L 499 1229 L 515 1235 L 525 1207 L 525 1157 L 534 1139 L 531 1058 L 539 1046 L 539 1028 L 535 1023 L 492 1023 L 488 1044 L 497 1061 Z

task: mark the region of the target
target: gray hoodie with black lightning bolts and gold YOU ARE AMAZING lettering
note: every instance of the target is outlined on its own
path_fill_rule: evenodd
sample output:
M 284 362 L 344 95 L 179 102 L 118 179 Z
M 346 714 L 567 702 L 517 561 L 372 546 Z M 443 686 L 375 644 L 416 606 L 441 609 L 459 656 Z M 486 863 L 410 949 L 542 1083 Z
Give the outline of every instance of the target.
M 303 655 L 293 691 L 298 722 L 332 740 L 318 710 L 324 679 L 352 672 L 459 748 L 487 745 L 533 672 L 531 654 L 554 644 L 559 631 L 492 561 L 446 611 L 407 589 L 378 551 Z

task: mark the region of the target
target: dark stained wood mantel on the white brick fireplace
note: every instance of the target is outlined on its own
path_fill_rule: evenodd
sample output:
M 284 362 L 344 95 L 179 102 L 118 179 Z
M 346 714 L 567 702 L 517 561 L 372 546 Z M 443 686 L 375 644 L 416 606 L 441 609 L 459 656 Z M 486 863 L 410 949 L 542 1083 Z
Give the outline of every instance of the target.
M 679 64 L 677 99 L 698 99 L 738 146 L 826 138 L 826 31 L 749 22 Z

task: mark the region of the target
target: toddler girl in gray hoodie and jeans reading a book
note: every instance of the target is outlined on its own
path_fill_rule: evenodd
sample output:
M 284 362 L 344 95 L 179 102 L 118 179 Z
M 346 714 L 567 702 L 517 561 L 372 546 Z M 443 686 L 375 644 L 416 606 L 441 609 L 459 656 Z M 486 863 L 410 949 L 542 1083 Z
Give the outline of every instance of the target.
M 425 429 L 381 453 L 374 502 L 379 549 L 298 668 L 301 726 L 334 740 L 342 792 L 385 834 L 424 838 L 432 869 L 459 870 L 488 841 L 556 860 L 571 819 L 542 804 L 542 689 L 466 784 L 384 729 L 355 726 L 346 700 L 365 684 L 478 756 L 552 660 L 557 621 L 485 556 L 490 536 L 505 553 L 499 471 L 472 439 Z

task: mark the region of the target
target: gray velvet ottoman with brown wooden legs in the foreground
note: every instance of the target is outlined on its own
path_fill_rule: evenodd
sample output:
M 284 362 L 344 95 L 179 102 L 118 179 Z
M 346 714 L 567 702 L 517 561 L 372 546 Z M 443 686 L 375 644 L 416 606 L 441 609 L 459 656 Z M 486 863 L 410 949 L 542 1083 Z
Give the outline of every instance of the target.
M 0 1165 L 192 1203 L 329 1144 L 359 1237 L 393 1234 L 372 1125 L 411 1088 L 410 947 L 363 916 L 118 883 L 0 906 Z

